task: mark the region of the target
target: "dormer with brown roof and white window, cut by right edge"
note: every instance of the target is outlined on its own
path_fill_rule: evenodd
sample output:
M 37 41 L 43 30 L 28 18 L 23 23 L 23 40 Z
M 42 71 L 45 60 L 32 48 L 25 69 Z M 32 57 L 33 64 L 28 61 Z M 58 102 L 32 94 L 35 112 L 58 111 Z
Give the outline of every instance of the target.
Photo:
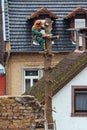
M 64 17 L 70 21 L 70 28 L 68 30 L 71 31 L 71 39 L 74 43 L 76 43 L 76 49 L 78 50 L 87 49 L 85 48 L 87 46 L 87 40 L 85 38 L 86 33 L 84 33 L 84 31 L 80 31 L 81 28 L 86 28 L 86 15 L 87 10 L 82 7 L 78 7 Z

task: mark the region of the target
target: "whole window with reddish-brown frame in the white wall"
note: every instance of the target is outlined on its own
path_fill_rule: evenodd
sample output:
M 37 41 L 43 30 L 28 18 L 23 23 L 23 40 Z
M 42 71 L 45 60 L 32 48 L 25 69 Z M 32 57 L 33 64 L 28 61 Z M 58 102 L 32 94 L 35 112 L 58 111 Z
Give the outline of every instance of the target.
M 72 87 L 72 116 L 87 116 L 87 86 Z

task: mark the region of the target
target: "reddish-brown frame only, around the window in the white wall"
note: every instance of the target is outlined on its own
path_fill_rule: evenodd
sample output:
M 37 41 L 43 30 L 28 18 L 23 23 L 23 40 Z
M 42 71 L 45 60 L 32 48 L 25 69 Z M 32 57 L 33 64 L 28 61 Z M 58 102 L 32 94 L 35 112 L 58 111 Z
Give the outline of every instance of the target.
M 79 117 L 87 117 L 87 112 L 75 112 L 75 90 L 78 89 L 78 90 L 83 90 L 83 89 L 86 89 L 87 90 L 87 86 L 72 86 L 72 89 L 71 89 L 71 116 L 72 117 L 76 117 L 76 116 L 79 116 Z

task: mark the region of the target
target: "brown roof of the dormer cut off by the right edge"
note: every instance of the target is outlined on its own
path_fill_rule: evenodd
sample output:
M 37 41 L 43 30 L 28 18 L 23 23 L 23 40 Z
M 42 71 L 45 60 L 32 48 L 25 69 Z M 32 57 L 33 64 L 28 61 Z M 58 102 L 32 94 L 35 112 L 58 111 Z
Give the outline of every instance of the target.
M 77 7 L 74 10 L 72 10 L 71 12 L 69 12 L 66 16 L 64 16 L 65 19 L 71 18 L 73 16 L 75 16 L 76 14 L 81 12 L 84 12 L 85 14 L 87 14 L 87 10 L 82 8 L 82 7 Z

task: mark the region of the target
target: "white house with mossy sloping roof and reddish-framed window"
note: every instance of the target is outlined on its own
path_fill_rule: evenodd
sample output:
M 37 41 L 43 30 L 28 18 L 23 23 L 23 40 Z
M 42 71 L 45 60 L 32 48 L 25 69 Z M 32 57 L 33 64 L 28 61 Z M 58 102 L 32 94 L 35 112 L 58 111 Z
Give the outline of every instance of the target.
M 61 67 L 62 66 L 62 67 Z M 52 115 L 56 130 L 85 130 L 87 123 L 87 52 L 73 52 L 51 71 Z M 25 95 L 43 103 L 46 80 L 41 79 Z M 50 97 L 50 96 L 49 96 Z M 48 107 L 48 110 L 50 107 Z M 50 111 L 50 110 L 49 110 Z M 46 109 L 45 109 L 46 112 Z

